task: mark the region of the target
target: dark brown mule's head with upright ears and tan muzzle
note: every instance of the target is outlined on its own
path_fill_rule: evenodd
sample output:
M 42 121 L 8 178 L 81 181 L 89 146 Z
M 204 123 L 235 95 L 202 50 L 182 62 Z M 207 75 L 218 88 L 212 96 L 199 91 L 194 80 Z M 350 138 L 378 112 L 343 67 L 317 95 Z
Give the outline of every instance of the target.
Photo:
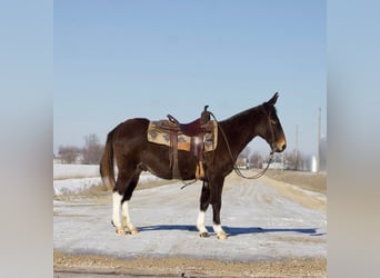
M 261 137 L 270 145 L 272 152 L 281 152 L 287 147 L 287 139 L 274 107 L 278 97 L 279 93 L 276 92 L 270 100 L 262 103 L 266 119 L 262 121 L 264 128 Z

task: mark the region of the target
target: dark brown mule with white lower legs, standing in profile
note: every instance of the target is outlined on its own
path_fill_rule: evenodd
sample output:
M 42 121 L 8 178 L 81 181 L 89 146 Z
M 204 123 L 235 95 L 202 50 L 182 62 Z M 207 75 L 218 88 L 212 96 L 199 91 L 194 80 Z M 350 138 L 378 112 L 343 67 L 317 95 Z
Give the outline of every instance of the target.
M 274 108 L 278 93 L 261 106 L 242 111 L 219 122 L 218 145 L 214 151 L 204 153 L 204 171 L 200 211 L 197 228 L 201 237 L 208 236 L 204 214 L 211 203 L 213 230 L 218 238 L 227 238 L 221 227 L 221 195 L 226 176 L 234 166 L 238 155 L 256 137 L 263 138 L 272 152 L 284 150 L 286 137 Z M 130 221 L 128 201 L 139 181 L 141 171 L 150 171 L 162 179 L 172 179 L 172 169 L 167 146 L 148 142 L 148 119 L 130 119 L 108 133 L 104 153 L 100 163 L 103 182 L 113 189 L 112 221 L 118 234 L 138 230 Z M 118 166 L 114 179 L 113 161 Z M 179 171 L 182 180 L 194 179 L 197 158 L 188 151 L 178 151 Z M 152 197 L 153 198 L 153 197 Z

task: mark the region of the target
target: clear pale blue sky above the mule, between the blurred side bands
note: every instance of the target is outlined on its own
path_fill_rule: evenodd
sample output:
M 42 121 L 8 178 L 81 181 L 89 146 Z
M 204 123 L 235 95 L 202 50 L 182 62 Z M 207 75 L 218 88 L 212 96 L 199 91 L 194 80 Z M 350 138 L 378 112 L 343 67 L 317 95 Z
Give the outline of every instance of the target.
M 53 151 L 134 117 L 219 120 L 278 91 L 288 151 L 327 125 L 326 1 L 57 0 Z M 261 139 L 252 151 L 269 152 Z

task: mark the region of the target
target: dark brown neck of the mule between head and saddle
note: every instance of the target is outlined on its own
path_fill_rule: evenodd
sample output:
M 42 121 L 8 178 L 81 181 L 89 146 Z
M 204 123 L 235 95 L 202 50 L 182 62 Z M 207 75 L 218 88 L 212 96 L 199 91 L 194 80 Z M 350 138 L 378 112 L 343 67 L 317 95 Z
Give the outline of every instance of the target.
M 259 136 L 263 118 L 263 107 L 258 106 L 220 122 L 234 159 L 256 136 Z M 222 140 L 224 141 L 223 137 Z

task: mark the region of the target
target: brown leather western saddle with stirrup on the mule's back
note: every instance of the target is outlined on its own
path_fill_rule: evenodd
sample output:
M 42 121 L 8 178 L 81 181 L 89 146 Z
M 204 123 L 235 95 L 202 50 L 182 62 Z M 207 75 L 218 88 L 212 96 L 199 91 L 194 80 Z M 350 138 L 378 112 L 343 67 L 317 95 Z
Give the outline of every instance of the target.
M 170 135 L 169 159 L 174 179 L 181 179 L 181 175 L 178 169 L 178 135 L 180 133 L 191 138 L 190 151 L 194 157 L 197 157 L 196 179 L 204 178 L 204 135 L 213 132 L 213 122 L 211 121 L 210 111 L 207 110 L 208 107 L 209 106 L 204 106 L 200 118 L 189 123 L 180 123 L 174 117 L 168 115 L 169 121 L 160 126 L 162 130 Z

